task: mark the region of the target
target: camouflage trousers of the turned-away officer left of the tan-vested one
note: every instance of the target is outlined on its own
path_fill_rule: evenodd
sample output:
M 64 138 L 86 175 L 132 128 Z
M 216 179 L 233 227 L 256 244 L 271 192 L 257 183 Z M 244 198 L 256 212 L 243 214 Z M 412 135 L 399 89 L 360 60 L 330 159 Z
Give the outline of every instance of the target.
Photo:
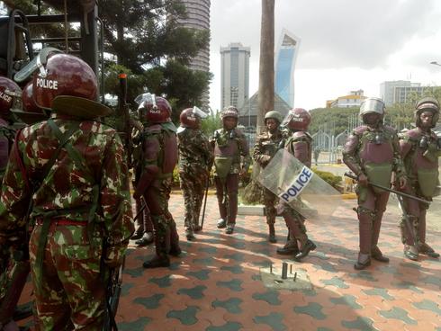
M 179 173 L 181 190 L 184 196 L 184 228 L 193 231 L 199 226 L 203 194 L 207 184 L 207 175 Z

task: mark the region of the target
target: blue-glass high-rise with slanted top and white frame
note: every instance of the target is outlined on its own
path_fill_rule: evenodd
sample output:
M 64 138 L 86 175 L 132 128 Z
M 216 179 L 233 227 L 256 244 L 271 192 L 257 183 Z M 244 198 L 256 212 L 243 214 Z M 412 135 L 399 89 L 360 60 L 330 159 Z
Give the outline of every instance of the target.
M 300 39 L 283 30 L 275 53 L 275 93 L 290 107 L 294 104 L 294 67 Z

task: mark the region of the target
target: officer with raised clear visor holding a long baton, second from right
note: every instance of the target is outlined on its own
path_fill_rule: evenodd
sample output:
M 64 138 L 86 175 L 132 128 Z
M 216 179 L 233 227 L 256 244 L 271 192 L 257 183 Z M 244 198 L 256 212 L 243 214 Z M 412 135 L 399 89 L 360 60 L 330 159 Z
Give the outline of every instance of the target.
M 370 186 L 376 183 L 386 187 L 395 174 L 401 188 L 406 184 L 406 173 L 401 161 L 400 144 L 395 130 L 383 125 L 383 100 L 368 98 L 360 106 L 360 118 L 365 125 L 356 128 L 347 138 L 343 162 L 358 177 L 358 221 L 360 252 L 354 265 L 365 269 L 374 260 L 388 263 L 378 248 L 378 237 L 389 192 Z

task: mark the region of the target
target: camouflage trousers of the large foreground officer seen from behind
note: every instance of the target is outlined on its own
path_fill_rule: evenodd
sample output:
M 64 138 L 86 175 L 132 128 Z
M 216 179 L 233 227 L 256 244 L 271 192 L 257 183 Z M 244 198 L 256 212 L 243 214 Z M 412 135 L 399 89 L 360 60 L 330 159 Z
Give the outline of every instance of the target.
M 102 238 L 88 238 L 85 226 L 51 223 L 42 271 L 37 274 L 40 230 L 35 226 L 30 240 L 37 329 L 102 330 L 106 283 L 100 270 Z

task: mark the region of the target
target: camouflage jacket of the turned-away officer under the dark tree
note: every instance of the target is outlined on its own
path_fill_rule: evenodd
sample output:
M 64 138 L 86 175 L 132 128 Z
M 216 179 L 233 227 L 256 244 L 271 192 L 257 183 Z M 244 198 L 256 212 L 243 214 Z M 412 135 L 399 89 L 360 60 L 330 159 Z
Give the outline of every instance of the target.
M 177 144 L 180 172 L 197 175 L 210 171 L 213 153 L 202 130 L 180 127 L 177 130 Z

